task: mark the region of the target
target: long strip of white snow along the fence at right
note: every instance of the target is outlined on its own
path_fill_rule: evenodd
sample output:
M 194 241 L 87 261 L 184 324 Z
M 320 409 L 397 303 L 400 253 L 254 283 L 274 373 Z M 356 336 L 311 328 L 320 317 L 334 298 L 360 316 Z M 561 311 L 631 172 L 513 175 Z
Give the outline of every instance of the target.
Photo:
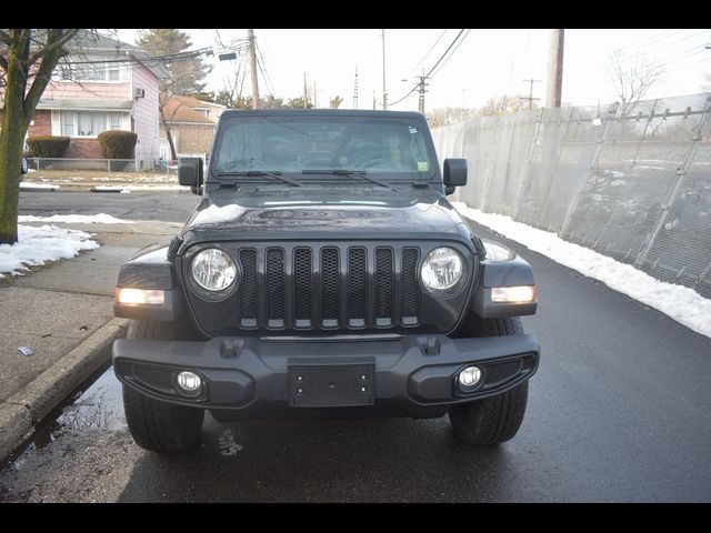
M 468 219 L 520 242 L 534 252 L 602 281 L 610 289 L 654 308 L 697 333 L 711 338 L 711 300 L 693 289 L 658 280 L 641 270 L 578 244 L 555 233 L 515 222 L 511 217 L 484 213 L 463 202 L 454 208 Z

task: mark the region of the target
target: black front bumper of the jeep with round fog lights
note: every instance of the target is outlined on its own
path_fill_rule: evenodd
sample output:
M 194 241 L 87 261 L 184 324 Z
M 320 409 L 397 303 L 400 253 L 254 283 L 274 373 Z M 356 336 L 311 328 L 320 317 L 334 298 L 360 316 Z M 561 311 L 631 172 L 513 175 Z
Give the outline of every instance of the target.
M 256 338 L 214 338 L 206 342 L 122 339 L 113 344 L 113 369 L 119 380 L 148 396 L 216 412 L 231 411 L 240 418 L 278 409 L 297 414 L 312 408 L 332 412 L 333 408 L 354 406 L 351 392 L 346 394 L 348 400 L 339 403 L 341 396 L 328 396 L 329 391 L 326 395 L 331 400 L 327 398 L 327 403 L 320 391 L 318 405 L 307 401 L 303 406 L 302 394 L 328 386 L 357 386 L 362 391 L 361 396 L 356 395 L 360 398 L 356 403 L 360 402 L 361 412 L 377 415 L 378 408 L 387 408 L 398 414 L 424 416 L 443 412 L 455 403 L 514 388 L 533 375 L 539 351 L 533 335 L 482 339 L 408 335 L 336 342 Z M 483 379 L 475 390 L 462 392 L 455 376 L 470 364 L 482 369 Z M 311 375 L 311 382 L 304 383 L 300 375 L 303 372 L 298 369 L 306 369 L 304 375 Z M 308 373 L 309 369 L 313 371 Z M 196 398 L 181 394 L 176 385 L 177 375 L 183 370 L 199 374 L 204 382 Z M 341 374 L 343 381 L 339 380 Z M 350 378 L 350 374 L 357 376 Z M 323 375 L 330 383 L 323 383 Z M 333 376 L 337 378 L 331 381 Z M 365 383 L 357 383 L 359 379 Z M 306 388 L 310 389 L 304 392 Z

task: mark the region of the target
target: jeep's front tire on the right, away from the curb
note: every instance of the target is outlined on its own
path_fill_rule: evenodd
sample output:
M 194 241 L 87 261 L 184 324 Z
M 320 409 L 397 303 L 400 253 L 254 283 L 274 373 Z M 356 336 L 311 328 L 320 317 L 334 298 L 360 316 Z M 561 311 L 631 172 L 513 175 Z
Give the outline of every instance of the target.
M 521 319 L 479 319 L 470 315 L 465 324 L 468 333 L 475 336 L 515 335 L 523 333 Z M 519 431 L 529 395 L 529 382 L 503 394 L 453 405 L 449 420 L 454 434 L 473 446 L 491 446 L 505 442 Z

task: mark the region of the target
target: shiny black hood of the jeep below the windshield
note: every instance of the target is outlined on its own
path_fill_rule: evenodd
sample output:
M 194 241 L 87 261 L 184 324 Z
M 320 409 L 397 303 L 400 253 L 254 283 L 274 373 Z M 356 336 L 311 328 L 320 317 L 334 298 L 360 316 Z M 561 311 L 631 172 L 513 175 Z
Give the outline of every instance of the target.
M 439 239 L 471 247 L 471 231 L 439 194 L 422 191 L 264 190 L 206 197 L 182 231 L 183 247 L 228 240 Z

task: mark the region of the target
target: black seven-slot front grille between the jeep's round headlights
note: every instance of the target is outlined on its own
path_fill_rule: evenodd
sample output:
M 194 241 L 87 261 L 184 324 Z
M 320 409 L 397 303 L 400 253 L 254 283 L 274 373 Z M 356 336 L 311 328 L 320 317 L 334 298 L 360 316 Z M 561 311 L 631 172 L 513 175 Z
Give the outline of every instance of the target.
M 420 322 L 419 248 L 241 248 L 237 257 L 240 328 L 337 330 Z

